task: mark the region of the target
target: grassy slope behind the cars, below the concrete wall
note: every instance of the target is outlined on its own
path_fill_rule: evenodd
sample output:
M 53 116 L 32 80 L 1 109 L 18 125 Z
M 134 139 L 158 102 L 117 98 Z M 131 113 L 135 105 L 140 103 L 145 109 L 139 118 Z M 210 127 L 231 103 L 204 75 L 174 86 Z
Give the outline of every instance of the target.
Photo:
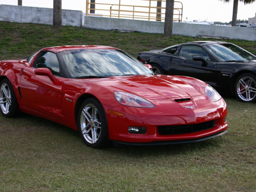
M 59 45 L 105 45 L 120 48 L 137 57 L 138 52 L 162 49 L 182 42 L 214 40 L 210 38 L 192 38 L 186 36 L 165 37 L 163 34 L 142 32 L 119 32 L 90 30 L 64 26 L 39 24 L 19 24 L 0 22 L 0 60 L 29 57 L 48 46 Z M 256 54 L 256 42 L 246 40 L 225 40 Z

